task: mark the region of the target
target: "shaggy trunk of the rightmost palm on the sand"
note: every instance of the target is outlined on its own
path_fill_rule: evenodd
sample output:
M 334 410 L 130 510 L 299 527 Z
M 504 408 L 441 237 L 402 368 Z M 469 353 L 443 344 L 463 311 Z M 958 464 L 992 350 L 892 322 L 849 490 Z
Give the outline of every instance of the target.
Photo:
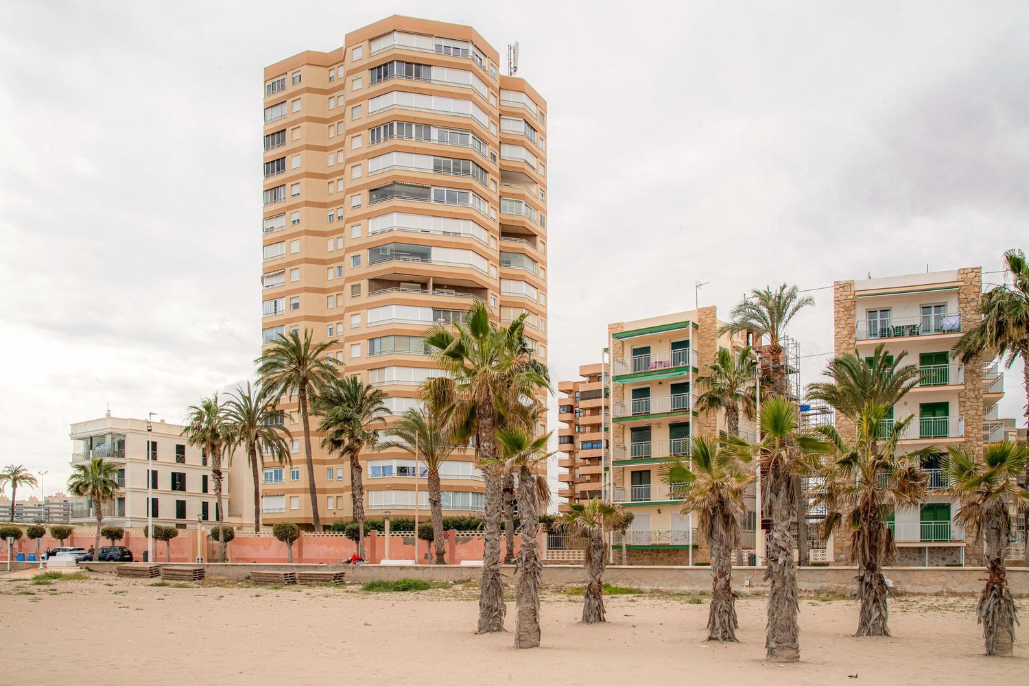
M 988 503 L 985 510 L 983 538 L 986 540 L 986 569 L 990 576 L 979 597 L 979 623 L 983 625 L 986 654 L 1010 657 L 1018 618 L 1004 568 L 1010 540 L 1010 514 L 1007 505 L 1000 500 Z

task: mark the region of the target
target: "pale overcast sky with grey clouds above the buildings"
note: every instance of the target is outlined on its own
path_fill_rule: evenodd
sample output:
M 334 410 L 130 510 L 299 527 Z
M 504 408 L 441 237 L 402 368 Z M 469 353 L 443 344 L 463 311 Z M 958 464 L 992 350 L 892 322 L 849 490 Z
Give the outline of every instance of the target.
M 2 6 L 0 464 L 49 470 L 47 493 L 70 423 L 179 422 L 252 372 L 262 68 L 390 10 L 519 40 L 548 100 L 556 380 L 607 322 L 691 310 L 698 280 L 724 314 L 766 284 L 1029 249 L 1024 2 Z M 832 349 L 831 290 L 812 294 L 805 383 Z

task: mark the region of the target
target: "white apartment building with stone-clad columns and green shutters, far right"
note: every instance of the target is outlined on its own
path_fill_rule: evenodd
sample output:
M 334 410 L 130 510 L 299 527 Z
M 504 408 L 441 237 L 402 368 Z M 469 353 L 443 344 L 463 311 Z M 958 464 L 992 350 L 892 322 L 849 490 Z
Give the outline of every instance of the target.
M 918 384 L 891 408 L 883 430 L 914 417 L 899 450 L 935 445 L 922 460 L 929 496 L 915 508 L 898 510 L 890 527 L 899 552 L 897 565 L 981 564 L 982 549 L 972 532 L 954 520 L 958 502 L 941 491 L 949 485 L 947 447 L 963 445 L 982 456 L 984 445 L 1004 437 L 997 403 L 1004 395 L 1003 375 L 993 359 L 963 363 L 951 352 L 954 344 L 980 320 L 981 267 L 902 277 L 838 281 L 835 285 L 836 354 L 855 350 L 871 357 L 878 346 L 886 354 L 906 351 L 902 364 L 918 366 Z M 837 429 L 854 440 L 854 426 L 837 416 Z M 836 537 L 837 556 L 845 557 L 848 541 Z

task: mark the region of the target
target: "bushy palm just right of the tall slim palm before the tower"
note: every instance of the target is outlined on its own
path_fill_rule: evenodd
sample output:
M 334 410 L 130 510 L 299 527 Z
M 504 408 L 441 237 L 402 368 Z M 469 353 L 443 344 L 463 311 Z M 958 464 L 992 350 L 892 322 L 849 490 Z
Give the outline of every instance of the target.
M 386 394 L 358 376 L 344 376 L 322 389 L 315 403 L 321 416 L 319 431 L 325 432 L 322 447 L 350 460 L 350 499 L 357 522 L 357 550 L 364 556 L 364 480 L 361 450 L 375 448 L 377 424 L 386 424 Z

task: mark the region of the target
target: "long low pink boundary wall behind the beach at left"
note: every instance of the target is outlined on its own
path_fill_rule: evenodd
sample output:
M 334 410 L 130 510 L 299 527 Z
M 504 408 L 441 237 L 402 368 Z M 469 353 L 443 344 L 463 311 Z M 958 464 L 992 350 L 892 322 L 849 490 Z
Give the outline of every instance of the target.
M 448 565 L 460 565 L 465 561 L 483 559 L 483 537 L 477 533 L 458 533 L 456 531 L 445 532 Z M 203 557 L 203 562 L 213 562 L 217 559 L 218 543 L 205 534 L 205 548 L 202 553 L 198 553 L 198 537 L 196 530 L 182 530 L 178 538 L 171 541 L 173 563 L 193 563 L 198 557 Z M 518 554 L 521 549 L 521 537 L 514 537 L 514 552 Z M 72 534 L 65 540 L 65 546 L 78 546 L 88 549 L 94 542 L 93 535 L 82 533 Z M 391 534 L 389 537 L 389 558 L 390 559 L 414 559 L 415 558 L 415 537 L 414 534 L 401 536 Z M 133 559 L 142 562 L 143 552 L 146 550 L 146 537 L 142 533 L 132 533 L 126 531 L 125 538 L 117 543 L 125 545 L 133 553 Z M 39 539 L 40 552 L 47 548 L 62 545 L 60 541 L 44 536 Z M 100 545 L 110 545 L 110 541 L 100 539 Z M 501 554 L 504 551 L 504 539 L 501 537 Z M 418 541 L 419 564 L 432 564 L 435 561 L 435 553 L 431 544 L 426 541 Z M 300 538 L 293 543 L 293 562 L 307 564 L 334 565 L 348 562 L 357 549 L 357 543 L 342 535 L 325 534 L 301 534 Z M 379 564 L 386 558 L 386 537 L 378 532 L 369 532 L 364 541 L 365 559 L 369 564 Z M 22 537 L 14 543 L 13 551 L 35 552 L 36 542 Z M 153 562 L 167 562 L 166 546 L 161 541 L 153 542 Z M 237 537 L 225 547 L 226 561 L 229 563 L 284 563 L 286 562 L 286 544 L 278 541 L 272 536 L 248 536 L 246 532 L 237 530 Z M 7 545 L 0 544 L 0 562 L 7 561 Z

